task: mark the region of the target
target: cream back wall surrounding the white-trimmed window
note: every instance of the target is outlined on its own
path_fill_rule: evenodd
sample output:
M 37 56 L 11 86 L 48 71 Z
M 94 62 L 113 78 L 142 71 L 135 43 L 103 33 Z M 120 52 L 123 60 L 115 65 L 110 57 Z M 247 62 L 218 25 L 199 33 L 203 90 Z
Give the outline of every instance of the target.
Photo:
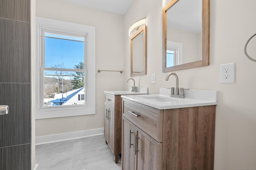
M 36 16 L 96 27 L 96 70 L 123 70 L 123 16 L 58 0 L 36 0 Z M 122 90 L 123 74 L 96 71 L 96 114 L 36 120 L 36 136 L 104 127 L 104 90 Z

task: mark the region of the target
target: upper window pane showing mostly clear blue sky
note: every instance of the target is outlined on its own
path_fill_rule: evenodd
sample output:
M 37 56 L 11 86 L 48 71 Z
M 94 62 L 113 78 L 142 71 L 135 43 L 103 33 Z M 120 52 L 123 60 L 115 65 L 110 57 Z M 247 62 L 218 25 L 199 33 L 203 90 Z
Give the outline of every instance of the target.
M 84 69 L 84 37 L 74 37 L 55 33 L 44 33 L 45 68 Z

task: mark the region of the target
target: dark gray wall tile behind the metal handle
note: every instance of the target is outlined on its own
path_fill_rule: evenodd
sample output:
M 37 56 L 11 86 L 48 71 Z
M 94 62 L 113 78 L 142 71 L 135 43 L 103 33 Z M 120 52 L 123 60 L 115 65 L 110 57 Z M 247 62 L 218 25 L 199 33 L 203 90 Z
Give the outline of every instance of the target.
M 30 84 L 0 83 L 0 104 L 9 106 L 9 113 L 0 116 L 0 146 L 31 143 Z

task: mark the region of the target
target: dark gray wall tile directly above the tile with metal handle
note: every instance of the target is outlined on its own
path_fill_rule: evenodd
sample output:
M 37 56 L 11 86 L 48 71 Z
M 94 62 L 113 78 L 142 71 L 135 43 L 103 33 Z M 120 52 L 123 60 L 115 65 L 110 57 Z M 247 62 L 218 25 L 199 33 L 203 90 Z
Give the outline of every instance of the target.
M 30 23 L 0 18 L 0 82 L 30 83 Z

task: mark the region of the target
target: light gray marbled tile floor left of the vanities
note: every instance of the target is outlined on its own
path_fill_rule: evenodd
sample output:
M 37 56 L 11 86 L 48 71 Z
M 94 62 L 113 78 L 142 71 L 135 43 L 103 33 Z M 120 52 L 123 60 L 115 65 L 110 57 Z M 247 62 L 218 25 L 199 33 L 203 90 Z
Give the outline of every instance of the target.
M 36 146 L 36 170 L 121 170 L 104 135 Z

